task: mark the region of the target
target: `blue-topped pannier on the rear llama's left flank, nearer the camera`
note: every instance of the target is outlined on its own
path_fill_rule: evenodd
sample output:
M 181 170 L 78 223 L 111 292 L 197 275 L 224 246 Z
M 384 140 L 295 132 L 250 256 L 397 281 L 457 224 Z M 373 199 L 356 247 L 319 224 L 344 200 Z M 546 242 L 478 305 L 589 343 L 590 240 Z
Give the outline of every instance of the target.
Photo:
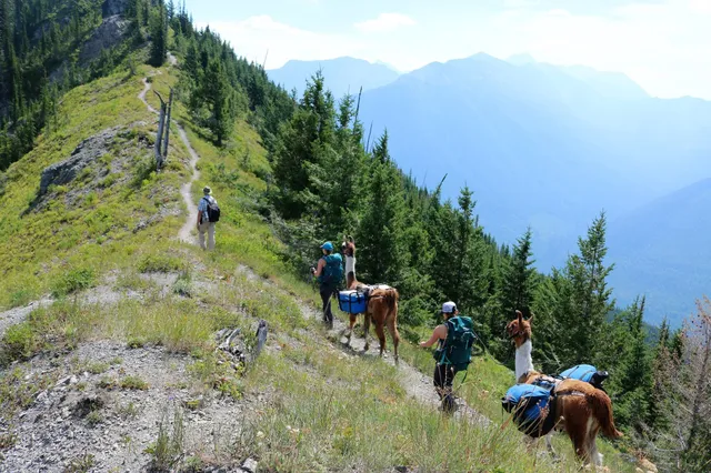
M 527 435 L 539 437 L 548 434 L 554 426 L 552 412 L 552 390 L 534 384 L 517 384 L 501 399 L 501 406 L 513 414 L 519 430 Z

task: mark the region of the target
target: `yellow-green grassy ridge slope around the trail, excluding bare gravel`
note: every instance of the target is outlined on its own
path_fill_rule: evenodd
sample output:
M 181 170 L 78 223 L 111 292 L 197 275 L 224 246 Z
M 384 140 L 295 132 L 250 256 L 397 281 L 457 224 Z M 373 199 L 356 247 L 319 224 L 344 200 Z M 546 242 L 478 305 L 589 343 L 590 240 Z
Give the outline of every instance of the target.
M 38 148 L 11 169 L 11 182 L 0 198 L 3 208 L 23 210 L 39 184 L 41 170 L 68 157 L 88 135 L 117 123 L 154 122 L 154 117 L 136 99 L 142 87 L 140 78 L 124 80 L 124 77 L 120 73 L 67 95 L 63 105 L 67 120 L 61 129 L 40 138 Z M 164 91 L 174 80 L 174 76 L 163 70 L 154 87 Z M 181 105 L 174 117 L 186 124 L 201 157 L 202 180 L 196 182 L 193 197 L 198 199 L 202 185 L 209 183 L 223 209 L 217 251 L 202 253 L 171 240 L 183 217 L 167 218 L 147 230 L 131 232 L 136 222 L 156 213 L 160 199 L 179 199 L 178 187 L 187 179 L 187 154 L 178 138 L 172 137 L 172 155 L 179 160 L 128 194 L 126 188 L 108 187 L 98 192 L 93 203 L 80 209 L 58 205 L 22 219 L 16 214 L 19 211 L 6 212 L 0 221 L 2 252 L 24 256 L 21 262 L 11 259 L 10 263 L 6 259 L 0 263 L 6 275 L 0 282 L 2 303 L 8 305 L 13 299 L 17 303 L 43 293 L 60 273 L 76 268 L 97 272 L 118 270 L 122 274 L 118 285 L 138 289 L 142 283 L 136 274 L 142 269 L 152 265 L 178 269 L 188 262 L 192 274 L 213 280 L 216 289 L 189 300 L 152 294 L 143 303 L 127 300 L 117 306 L 81 306 L 60 301 L 33 313 L 12 332 L 12 340 L 21 343 L 10 345 L 12 340 L 6 336 L 4 350 L 17 349 L 13 356 L 21 359 L 57 345 L 71 348 L 83 340 L 114 338 L 139 339 L 141 343 L 161 343 L 171 350 L 193 353 L 193 372 L 206 385 L 232 395 L 271 393 L 271 402 L 248 425 L 241 443 L 222 452 L 226 459 L 256 454 L 260 469 L 384 471 L 394 465 L 411 465 L 421 471 L 577 470 L 567 439 L 558 439 L 558 451 L 564 459 L 553 464 L 548 455 L 527 454 L 521 435 L 513 427 L 499 427 L 503 420 L 499 399 L 511 384 L 512 373 L 495 361 L 477 359 L 467 383 L 459 390 L 494 425 L 489 429 L 469 425 L 444 419 L 405 399 L 394 368 L 372 358 L 344 354 L 327 340 L 319 324 L 304 321 L 297 298 L 311 303 L 318 298 L 312 288 L 289 273 L 279 259 L 280 242 L 249 210 L 249 203 L 266 185 L 257 175 L 269 168 L 258 135 L 244 122 L 238 122 L 233 141 L 226 150 L 218 150 L 201 130 L 190 124 Z M 154 195 L 156 190 L 161 190 L 160 197 Z M 94 230 L 86 222 L 87 212 L 103 212 L 112 224 Z M 103 236 L 101 242 L 98 236 Z M 67 241 L 72 241 L 72 245 Z M 252 268 L 273 284 L 248 280 L 237 270 L 240 264 Z M 211 355 L 209 334 L 228 325 L 247 328 L 253 318 L 270 322 L 272 343 L 279 345 L 278 350 L 261 356 L 242 379 L 229 379 Z M 424 372 L 432 369 L 429 352 L 405 344 L 402 358 Z M 21 376 L 17 372 L 0 376 L 6 399 L 17 397 L 21 405 L 27 399 L 23 391 L 27 386 L 18 388 Z M 614 454 L 608 455 L 605 464 L 612 471 L 633 470 Z

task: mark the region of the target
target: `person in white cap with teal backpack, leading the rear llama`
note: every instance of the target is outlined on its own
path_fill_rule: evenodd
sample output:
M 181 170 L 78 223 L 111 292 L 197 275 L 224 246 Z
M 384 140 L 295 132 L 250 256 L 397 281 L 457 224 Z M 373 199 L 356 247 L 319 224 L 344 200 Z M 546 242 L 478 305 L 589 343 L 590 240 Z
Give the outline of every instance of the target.
M 452 394 L 452 382 L 458 372 L 467 370 L 471 361 L 471 345 L 474 341 L 472 321 L 468 316 L 460 316 L 457 304 L 444 302 L 442 304 L 442 316 L 444 323 L 438 325 L 432 332 L 432 336 L 427 342 L 420 342 L 420 346 L 430 348 L 439 342 L 439 348 L 434 351 L 434 388 L 442 401 L 442 410 L 452 412 L 454 410 L 454 396 Z

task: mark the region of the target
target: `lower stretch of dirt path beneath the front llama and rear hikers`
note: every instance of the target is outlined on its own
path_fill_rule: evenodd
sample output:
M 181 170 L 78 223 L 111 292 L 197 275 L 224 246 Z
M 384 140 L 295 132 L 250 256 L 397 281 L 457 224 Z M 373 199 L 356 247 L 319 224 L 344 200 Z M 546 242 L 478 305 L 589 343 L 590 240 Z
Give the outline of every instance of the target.
M 256 274 L 251 268 L 240 264 L 238 266 L 238 271 L 244 274 L 250 281 L 260 282 L 261 284 L 267 284 L 276 288 L 281 292 L 287 292 L 281 289 L 279 285 L 274 284 L 272 281 L 260 278 Z M 293 298 L 293 295 L 290 295 Z M 301 315 L 304 319 L 310 320 L 322 320 L 321 311 L 314 309 L 308 302 L 302 301 L 299 298 L 294 298 L 297 304 L 299 305 L 299 310 L 301 311 Z M 336 303 L 336 302 L 333 302 Z M 348 324 L 342 322 L 340 319 L 336 318 L 333 320 L 333 329 L 328 331 L 328 339 L 333 343 L 333 345 L 341 351 L 358 355 L 358 356 L 370 356 L 373 359 L 379 358 L 380 352 L 380 342 L 378 338 L 374 336 L 374 328 L 371 328 L 371 333 L 369 335 L 370 341 L 370 350 L 368 352 L 364 351 L 365 348 L 365 339 L 362 338 L 362 326 L 354 329 L 353 334 L 351 335 L 350 341 L 346 338 L 346 332 L 348 331 Z M 431 409 L 439 410 L 440 409 L 440 400 L 434 391 L 434 385 L 432 383 L 432 378 L 423 374 L 417 368 L 410 365 L 403 360 L 400 360 L 398 364 L 395 364 L 394 359 L 392 356 L 392 340 L 390 338 L 387 339 L 387 350 L 382 361 L 394 365 L 398 370 L 398 381 L 400 385 L 404 389 L 405 393 L 409 397 L 417 400 L 418 402 L 430 406 Z M 434 368 L 434 362 L 432 362 L 432 368 Z M 457 386 L 457 384 L 454 384 Z M 467 405 L 467 403 L 458 399 L 458 410 L 455 416 L 458 419 L 465 419 L 470 422 L 475 422 L 480 425 L 489 425 L 491 421 L 477 412 L 474 409 Z

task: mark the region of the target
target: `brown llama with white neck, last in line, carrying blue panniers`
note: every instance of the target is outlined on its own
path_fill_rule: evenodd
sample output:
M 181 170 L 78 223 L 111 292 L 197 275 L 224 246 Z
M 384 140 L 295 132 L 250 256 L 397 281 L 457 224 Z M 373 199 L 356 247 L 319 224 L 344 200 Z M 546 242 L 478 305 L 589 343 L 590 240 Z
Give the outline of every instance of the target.
M 532 384 L 543 378 L 555 383 L 555 394 L 551 412 L 555 413 L 555 430 L 562 430 L 573 443 L 575 454 L 585 464 L 602 465 L 602 454 L 598 452 L 595 437 L 601 431 L 609 439 L 622 436 L 614 426 L 612 417 L 612 402 L 604 391 L 592 384 L 579 380 L 555 380 L 545 376 L 533 368 L 531 343 L 531 315 L 523 319 L 520 311 L 517 318 L 507 325 L 507 334 L 515 345 L 515 378 L 518 383 Z M 552 452 L 551 436 L 545 435 L 545 442 Z

